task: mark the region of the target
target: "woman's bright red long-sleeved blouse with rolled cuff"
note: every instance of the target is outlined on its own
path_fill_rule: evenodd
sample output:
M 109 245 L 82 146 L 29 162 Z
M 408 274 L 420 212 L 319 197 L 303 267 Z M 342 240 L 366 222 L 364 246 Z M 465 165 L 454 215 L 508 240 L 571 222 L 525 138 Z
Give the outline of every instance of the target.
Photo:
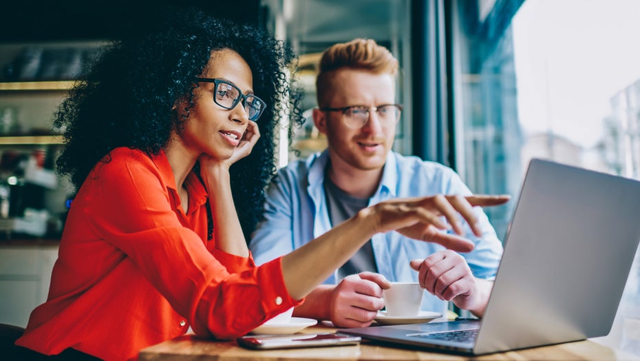
M 231 339 L 299 305 L 279 258 L 255 267 L 206 240 L 206 189 L 193 172 L 185 187 L 187 214 L 164 152 L 121 147 L 98 163 L 70 208 L 47 302 L 16 344 L 135 359 L 189 326 Z

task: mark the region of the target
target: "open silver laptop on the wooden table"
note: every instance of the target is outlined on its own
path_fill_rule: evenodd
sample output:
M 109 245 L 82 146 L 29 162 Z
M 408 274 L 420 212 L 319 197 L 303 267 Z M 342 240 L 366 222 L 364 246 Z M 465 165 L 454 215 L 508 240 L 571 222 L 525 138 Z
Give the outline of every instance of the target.
M 482 320 L 341 332 L 471 355 L 606 336 L 639 240 L 639 181 L 534 159 Z

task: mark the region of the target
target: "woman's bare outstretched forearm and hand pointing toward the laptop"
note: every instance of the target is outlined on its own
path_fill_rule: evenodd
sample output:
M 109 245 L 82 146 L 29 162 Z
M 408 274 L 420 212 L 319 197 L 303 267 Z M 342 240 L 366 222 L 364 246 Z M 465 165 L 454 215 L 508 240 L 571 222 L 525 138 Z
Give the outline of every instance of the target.
M 376 233 L 398 231 L 409 238 L 438 243 L 454 251 L 471 251 L 474 245 L 462 237 L 464 231 L 458 215 L 462 215 L 473 233 L 479 235 L 478 219 L 472 206 L 500 205 L 507 200 L 508 196 L 438 195 L 386 200 L 372 205 L 283 256 L 285 285 L 293 298 L 305 297 Z M 447 233 L 447 227 L 451 227 L 454 234 Z

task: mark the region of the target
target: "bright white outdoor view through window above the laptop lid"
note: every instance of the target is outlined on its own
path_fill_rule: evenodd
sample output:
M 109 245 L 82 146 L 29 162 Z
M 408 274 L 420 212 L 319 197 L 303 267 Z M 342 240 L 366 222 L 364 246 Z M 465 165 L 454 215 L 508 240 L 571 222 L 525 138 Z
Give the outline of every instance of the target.
M 512 21 L 533 156 L 640 178 L 640 1 L 528 0 Z

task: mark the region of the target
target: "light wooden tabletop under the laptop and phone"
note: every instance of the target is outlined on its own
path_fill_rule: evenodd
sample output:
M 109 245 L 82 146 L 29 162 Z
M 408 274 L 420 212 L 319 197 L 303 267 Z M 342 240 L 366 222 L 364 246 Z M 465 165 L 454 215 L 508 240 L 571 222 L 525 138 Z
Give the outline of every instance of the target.
M 333 332 L 336 329 L 318 325 L 303 333 Z M 280 360 L 640 360 L 636 355 L 606 347 L 591 340 L 569 342 L 520 351 L 492 353 L 476 358 L 432 353 L 416 349 L 383 347 L 363 340 L 358 346 L 315 347 L 253 351 L 239 347 L 235 341 L 198 340 L 185 335 L 140 351 L 139 360 L 218 360 L 218 361 L 280 361 Z

